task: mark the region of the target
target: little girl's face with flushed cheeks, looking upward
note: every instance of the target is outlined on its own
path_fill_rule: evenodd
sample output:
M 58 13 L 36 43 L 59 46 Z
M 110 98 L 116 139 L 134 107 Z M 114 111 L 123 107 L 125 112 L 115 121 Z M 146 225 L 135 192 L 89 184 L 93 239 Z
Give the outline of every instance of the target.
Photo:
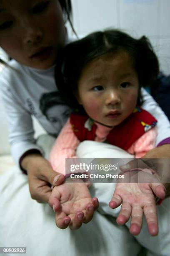
M 134 110 L 138 99 L 138 75 L 126 51 L 92 60 L 82 70 L 77 100 L 93 120 L 120 124 Z

